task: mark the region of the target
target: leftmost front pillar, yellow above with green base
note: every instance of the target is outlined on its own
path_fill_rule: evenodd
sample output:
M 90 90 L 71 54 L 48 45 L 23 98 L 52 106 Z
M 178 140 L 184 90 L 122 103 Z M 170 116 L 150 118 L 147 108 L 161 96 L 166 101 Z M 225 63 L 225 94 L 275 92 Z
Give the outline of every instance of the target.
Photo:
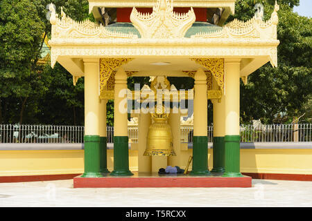
M 85 65 L 85 173 L 101 177 L 99 136 L 99 59 L 84 59 Z

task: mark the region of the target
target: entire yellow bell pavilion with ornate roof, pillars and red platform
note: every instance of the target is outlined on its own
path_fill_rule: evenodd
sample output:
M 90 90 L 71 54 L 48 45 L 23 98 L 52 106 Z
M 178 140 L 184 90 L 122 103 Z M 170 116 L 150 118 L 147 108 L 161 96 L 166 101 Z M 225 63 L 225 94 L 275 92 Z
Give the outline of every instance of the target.
M 277 66 L 279 6 L 275 3 L 268 21 L 260 7 L 249 21 L 224 25 L 235 1 L 89 0 L 96 22 L 74 21 L 62 9 L 58 15 L 50 4 L 51 66 L 58 62 L 66 68 L 73 84 L 85 78 L 85 171 L 74 178 L 74 187 L 251 186 L 251 177 L 240 171 L 240 80 L 246 84 L 248 75 L 268 62 Z M 129 90 L 128 77 L 150 77 L 150 84 Z M 191 77 L 194 87 L 179 90 L 167 77 Z M 112 171 L 107 170 L 108 99 L 114 100 Z M 207 115 L 208 99 L 213 116 Z M 180 119 L 189 101 L 191 156 L 180 142 Z M 138 119 L 137 144 L 128 136 L 130 115 Z M 207 117 L 214 124 L 211 169 Z M 130 147 L 138 151 L 135 172 L 129 169 Z M 170 165 L 186 171 L 157 173 Z

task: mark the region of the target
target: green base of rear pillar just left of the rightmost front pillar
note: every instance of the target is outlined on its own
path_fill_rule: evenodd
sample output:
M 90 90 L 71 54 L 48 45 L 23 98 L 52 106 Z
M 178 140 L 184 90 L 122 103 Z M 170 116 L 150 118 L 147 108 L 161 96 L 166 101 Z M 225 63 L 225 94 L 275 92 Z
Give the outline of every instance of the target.
M 213 173 L 223 173 L 224 169 L 224 137 L 213 138 Z

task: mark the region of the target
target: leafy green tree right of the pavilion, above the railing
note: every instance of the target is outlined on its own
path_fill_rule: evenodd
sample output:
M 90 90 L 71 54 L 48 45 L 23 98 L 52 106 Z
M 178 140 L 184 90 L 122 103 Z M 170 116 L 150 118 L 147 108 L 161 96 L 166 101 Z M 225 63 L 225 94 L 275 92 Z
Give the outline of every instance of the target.
M 275 1 L 261 1 L 265 19 L 269 19 Z M 291 122 L 304 111 L 311 95 L 312 20 L 293 12 L 297 0 L 279 1 L 277 26 L 278 67 L 266 64 L 248 77 L 248 84 L 241 84 L 242 122 L 261 119 L 265 123 Z M 252 1 L 236 2 L 232 19 L 248 20 L 254 14 Z M 281 115 L 277 121 L 275 118 Z M 305 118 L 302 117 L 302 120 Z

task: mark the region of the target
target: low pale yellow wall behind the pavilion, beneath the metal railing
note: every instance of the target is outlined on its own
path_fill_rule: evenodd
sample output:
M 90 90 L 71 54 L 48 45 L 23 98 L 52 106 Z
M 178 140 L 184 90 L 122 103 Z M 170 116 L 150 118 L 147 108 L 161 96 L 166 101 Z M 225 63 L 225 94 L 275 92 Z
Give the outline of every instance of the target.
M 113 150 L 107 150 L 107 168 L 114 167 Z M 182 169 L 192 150 L 181 151 Z M 138 171 L 138 151 L 129 151 L 130 171 Z M 0 151 L 0 176 L 83 173 L 83 150 Z M 241 149 L 242 173 L 312 174 L 312 149 Z M 212 169 L 212 149 L 208 151 Z M 191 171 L 191 165 L 189 168 Z

